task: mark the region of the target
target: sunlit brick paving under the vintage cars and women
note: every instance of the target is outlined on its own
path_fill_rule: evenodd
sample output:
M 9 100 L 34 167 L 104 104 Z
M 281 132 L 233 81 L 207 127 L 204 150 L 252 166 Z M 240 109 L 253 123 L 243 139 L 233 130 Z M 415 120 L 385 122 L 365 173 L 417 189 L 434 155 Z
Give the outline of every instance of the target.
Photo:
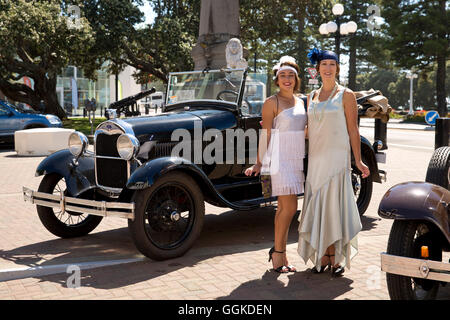
M 274 207 L 251 212 L 206 206 L 200 238 L 183 257 L 81 270 L 80 287 L 72 274 L 61 273 L 0 282 L 1 300 L 386 300 L 380 252 L 386 250 L 392 221 L 378 217 L 386 190 L 403 181 L 423 180 L 432 151 L 390 148 L 388 181 L 374 184 L 371 204 L 362 217 L 359 254 L 341 278 L 312 274 L 296 252 L 294 219 L 288 239 L 290 263 L 297 273 L 278 274 L 267 262 L 273 243 Z M 134 247 L 127 222 L 108 218 L 90 235 L 59 239 L 40 223 L 34 205 L 25 203 L 21 188 L 37 189 L 34 171 L 42 157 L 16 157 L 0 150 L 0 269 L 142 257 Z M 299 200 L 301 208 L 302 200 Z M 296 217 L 297 218 L 297 217 Z M 448 258 L 448 257 L 447 257 Z M 449 286 L 439 299 L 450 299 Z

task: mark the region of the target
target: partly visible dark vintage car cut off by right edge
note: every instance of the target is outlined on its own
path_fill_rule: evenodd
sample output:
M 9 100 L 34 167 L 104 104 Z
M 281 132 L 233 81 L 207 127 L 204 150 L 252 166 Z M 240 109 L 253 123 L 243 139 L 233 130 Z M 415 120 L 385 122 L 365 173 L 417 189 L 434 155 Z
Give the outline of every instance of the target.
M 450 147 L 436 149 L 425 182 L 405 182 L 383 196 L 378 214 L 395 219 L 381 254 L 392 300 L 429 300 L 450 282 Z

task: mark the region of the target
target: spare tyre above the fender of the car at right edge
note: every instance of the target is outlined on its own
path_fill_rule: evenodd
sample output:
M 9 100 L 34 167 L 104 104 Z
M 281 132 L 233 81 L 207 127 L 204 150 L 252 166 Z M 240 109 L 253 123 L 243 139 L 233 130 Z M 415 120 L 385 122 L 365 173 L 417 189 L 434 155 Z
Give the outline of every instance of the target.
M 450 167 L 450 147 L 434 150 L 428 164 L 426 182 L 448 189 L 448 169 Z

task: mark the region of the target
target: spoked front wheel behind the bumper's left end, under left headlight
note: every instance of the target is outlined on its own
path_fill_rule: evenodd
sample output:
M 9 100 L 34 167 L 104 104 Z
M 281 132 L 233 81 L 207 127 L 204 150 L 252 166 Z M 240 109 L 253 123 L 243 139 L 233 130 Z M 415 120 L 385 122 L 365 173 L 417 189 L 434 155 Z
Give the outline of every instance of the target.
M 39 192 L 70 196 L 64 177 L 51 173 L 44 176 Z M 81 237 L 93 231 L 103 217 L 37 205 L 39 219 L 45 228 L 60 238 Z

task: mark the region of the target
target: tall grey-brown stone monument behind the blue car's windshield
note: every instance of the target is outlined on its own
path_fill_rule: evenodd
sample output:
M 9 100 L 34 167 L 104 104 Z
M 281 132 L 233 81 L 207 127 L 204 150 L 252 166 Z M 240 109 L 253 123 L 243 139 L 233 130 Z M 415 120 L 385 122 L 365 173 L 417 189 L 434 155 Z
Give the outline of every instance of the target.
M 239 34 L 239 0 L 202 0 L 199 37 L 191 52 L 195 70 L 226 67 L 228 41 Z

